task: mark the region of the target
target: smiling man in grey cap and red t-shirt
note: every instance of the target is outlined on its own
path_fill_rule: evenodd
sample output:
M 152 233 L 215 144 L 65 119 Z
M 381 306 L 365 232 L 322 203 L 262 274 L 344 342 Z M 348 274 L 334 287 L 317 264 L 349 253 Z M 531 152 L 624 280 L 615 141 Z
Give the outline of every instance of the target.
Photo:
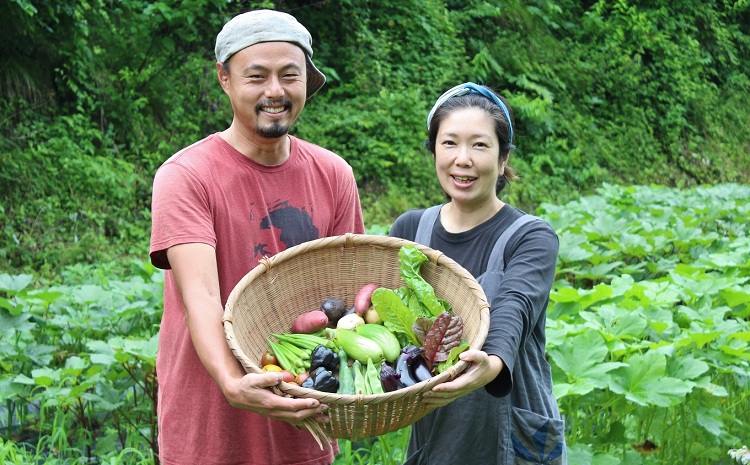
M 351 167 L 288 134 L 325 83 L 312 39 L 292 16 L 251 11 L 216 39 L 234 117 L 157 171 L 151 261 L 163 268 L 156 362 L 165 465 L 330 464 L 301 422 L 327 421 L 314 399 L 277 396 L 278 373 L 245 374 L 221 322 L 236 283 L 263 256 L 324 236 L 363 233 Z

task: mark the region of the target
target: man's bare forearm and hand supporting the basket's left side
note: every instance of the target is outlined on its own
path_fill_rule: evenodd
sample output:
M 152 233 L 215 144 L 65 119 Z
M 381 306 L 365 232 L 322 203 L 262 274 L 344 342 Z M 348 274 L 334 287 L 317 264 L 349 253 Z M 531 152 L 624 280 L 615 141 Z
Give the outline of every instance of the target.
M 325 409 L 316 399 L 281 397 L 267 389 L 279 384 L 278 373 L 245 374 L 224 335 L 224 309 L 213 247 L 180 244 L 169 248 L 167 257 L 182 296 L 193 346 L 230 405 L 291 423 Z M 320 415 L 315 419 L 325 421 L 327 417 Z

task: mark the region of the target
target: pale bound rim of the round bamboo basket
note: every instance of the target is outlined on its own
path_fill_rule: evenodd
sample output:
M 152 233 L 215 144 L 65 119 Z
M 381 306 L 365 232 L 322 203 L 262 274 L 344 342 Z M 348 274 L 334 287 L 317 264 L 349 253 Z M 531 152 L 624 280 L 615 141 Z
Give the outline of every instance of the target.
M 297 255 L 319 249 L 352 247 L 355 245 L 382 246 L 384 248 L 400 248 L 405 245 L 414 245 L 427 256 L 428 260 L 431 263 L 448 268 L 450 271 L 457 274 L 460 278 L 469 283 L 471 293 L 480 302 L 480 321 L 478 332 L 474 340 L 470 342 L 469 348 L 482 348 L 482 345 L 484 344 L 487 333 L 489 331 L 490 304 L 487 301 L 487 297 L 482 290 L 482 287 L 471 275 L 471 273 L 469 273 L 463 266 L 458 264 L 456 261 L 445 255 L 444 253 L 440 252 L 439 250 L 432 249 L 428 246 L 407 239 L 373 234 L 346 233 L 338 236 L 328 236 L 319 239 L 313 239 L 311 241 L 303 242 L 301 244 L 289 247 L 288 249 L 283 250 L 273 256 L 265 256 L 261 258 L 258 264 L 253 267 L 245 276 L 243 276 L 242 279 L 240 279 L 240 281 L 232 289 L 229 296 L 227 297 L 227 302 L 224 306 L 224 316 L 222 318 L 222 323 L 224 326 L 227 344 L 247 373 L 262 373 L 262 370 L 244 353 L 244 350 L 239 346 L 235 338 L 234 325 L 232 322 L 233 304 L 239 298 L 242 292 L 244 292 L 245 288 L 249 286 L 255 279 L 258 279 L 263 274 L 271 271 L 274 267 L 279 266 L 280 264 L 294 258 Z M 314 398 L 320 400 L 321 402 L 335 405 L 348 405 L 359 402 L 380 403 L 387 402 L 392 399 L 410 397 L 414 394 L 429 391 L 437 384 L 454 379 L 456 376 L 460 375 L 464 370 L 466 370 L 468 366 L 468 363 L 464 361 L 458 361 L 455 365 L 450 367 L 445 372 L 435 375 L 430 379 L 421 381 L 406 388 L 398 389 L 396 391 L 391 391 L 384 394 L 336 394 L 317 391 L 314 389 L 307 389 L 301 386 L 297 386 L 295 383 L 286 382 L 280 383 L 279 388 L 280 391 L 288 395 L 294 395 L 296 397 L 304 398 Z

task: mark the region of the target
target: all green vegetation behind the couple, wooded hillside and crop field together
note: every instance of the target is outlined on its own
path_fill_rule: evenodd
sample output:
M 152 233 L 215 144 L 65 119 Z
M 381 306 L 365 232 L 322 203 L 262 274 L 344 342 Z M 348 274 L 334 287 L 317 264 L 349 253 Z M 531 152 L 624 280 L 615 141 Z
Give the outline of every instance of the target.
M 328 83 L 293 131 L 353 166 L 368 232 L 443 200 L 422 143 L 444 90 L 507 97 L 504 199 L 564 245 L 548 347 L 576 465 L 714 465 L 746 439 L 747 0 L 2 0 L 0 458 L 154 449 L 151 182 L 229 125 L 215 37 L 260 7 L 313 35 Z M 368 447 L 397 463 L 399 438 Z

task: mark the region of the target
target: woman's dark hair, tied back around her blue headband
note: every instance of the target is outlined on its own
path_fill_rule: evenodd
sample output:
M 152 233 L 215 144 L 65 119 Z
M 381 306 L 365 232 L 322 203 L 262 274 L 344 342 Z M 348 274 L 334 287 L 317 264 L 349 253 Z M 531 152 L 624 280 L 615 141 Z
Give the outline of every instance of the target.
M 492 91 L 490 90 L 490 92 Z M 497 96 L 497 98 L 505 103 L 505 108 L 508 111 L 507 114 L 511 118 L 510 124 L 508 124 L 509 122 L 506 117 L 505 111 L 503 111 L 503 109 L 500 108 L 498 104 L 496 104 L 489 98 L 477 93 L 469 93 L 451 97 L 438 108 L 436 108 L 428 127 L 428 138 L 424 143 L 425 148 L 429 150 L 430 153 L 432 153 L 433 158 L 435 157 L 435 143 L 437 140 L 437 133 L 443 120 L 450 113 L 456 110 L 463 110 L 465 108 L 478 108 L 490 115 L 494 122 L 495 134 L 497 135 L 497 140 L 500 143 L 498 161 L 507 160 L 510 156 L 510 152 L 516 148 L 516 146 L 513 145 L 511 141 L 510 132 L 511 127 L 515 126 L 512 121 L 513 113 L 511 113 L 510 106 L 508 106 L 503 97 L 497 94 L 495 94 L 495 96 Z M 512 167 L 508 166 L 508 164 L 506 164 L 505 170 L 500 173 L 500 175 L 497 177 L 497 181 L 495 182 L 495 192 L 502 192 L 502 190 L 505 189 L 505 186 L 507 186 L 510 181 L 515 181 L 517 179 L 518 176 L 516 175 L 516 171 Z

